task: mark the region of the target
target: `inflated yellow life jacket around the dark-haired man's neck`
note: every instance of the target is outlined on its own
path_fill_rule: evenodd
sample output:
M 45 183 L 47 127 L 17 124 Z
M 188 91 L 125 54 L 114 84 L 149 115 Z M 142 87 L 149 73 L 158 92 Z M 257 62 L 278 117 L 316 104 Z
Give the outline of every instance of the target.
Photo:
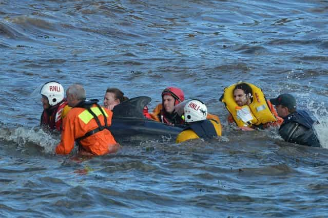
M 237 84 L 246 83 L 252 88 L 252 97 L 253 101 L 249 105 L 244 105 L 242 107 L 238 106 L 234 99 L 234 89 Z M 252 126 L 260 125 L 268 122 L 277 121 L 276 117 L 270 111 L 265 96 L 260 88 L 257 86 L 248 83 L 248 82 L 238 82 L 227 86 L 223 90 L 223 95 L 220 100 L 225 103 L 225 106 L 229 113 L 233 116 L 235 122 L 239 127 L 242 126 Z M 241 110 L 241 111 L 239 111 Z M 240 116 L 237 114 L 247 114 L 248 118 L 252 116 L 247 123 L 245 123 Z

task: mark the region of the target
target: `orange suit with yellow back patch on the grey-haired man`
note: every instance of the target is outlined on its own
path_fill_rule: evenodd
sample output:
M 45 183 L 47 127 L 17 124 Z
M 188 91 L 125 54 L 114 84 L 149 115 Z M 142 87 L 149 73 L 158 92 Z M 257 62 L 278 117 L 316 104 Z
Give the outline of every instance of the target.
M 107 108 L 101 107 L 107 118 L 107 125 L 111 125 L 112 112 Z M 91 111 L 98 116 L 101 125 L 104 125 L 104 116 L 93 104 Z M 56 147 L 56 154 L 68 155 L 74 148 L 74 141 L 83 137 L 91 130 L 97 129 L 99 126 L 91 113 L 86 108 L 73 107 L 63 120 L 62 139 Z M 108 129 L 103 129 L 80 141 L 84 150 L 94 155 L 105 155 L 111 150 L 112 146 L 116 146 L 117 142 Z

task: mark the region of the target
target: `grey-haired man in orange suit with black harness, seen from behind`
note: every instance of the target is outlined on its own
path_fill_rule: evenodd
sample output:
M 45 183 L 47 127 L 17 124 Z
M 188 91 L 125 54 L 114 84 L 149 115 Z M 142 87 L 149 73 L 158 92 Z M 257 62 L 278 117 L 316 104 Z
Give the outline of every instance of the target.
M 62 138 L 55 153 L 68 155 L 74 147 L 74 141 L 79 145 L 79 151 L 87 154 L 116 152 L 120 145 L 108 130 L 112 112 L 99 106 L 97 99 L 85 100 L 86 92 L 79 84 L 71 85 L 66 97 L 72 108 L 63 120 Z

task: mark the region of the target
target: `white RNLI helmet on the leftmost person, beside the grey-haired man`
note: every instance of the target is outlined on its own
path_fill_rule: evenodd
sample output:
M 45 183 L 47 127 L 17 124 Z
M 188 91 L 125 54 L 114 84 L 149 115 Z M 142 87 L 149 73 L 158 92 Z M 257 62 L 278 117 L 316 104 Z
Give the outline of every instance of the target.
M 41 95 L 48 98 L 50 106 L 56 105 L 64 99 L 64 88 L 58 82 L 47 82 L 40 91 Z

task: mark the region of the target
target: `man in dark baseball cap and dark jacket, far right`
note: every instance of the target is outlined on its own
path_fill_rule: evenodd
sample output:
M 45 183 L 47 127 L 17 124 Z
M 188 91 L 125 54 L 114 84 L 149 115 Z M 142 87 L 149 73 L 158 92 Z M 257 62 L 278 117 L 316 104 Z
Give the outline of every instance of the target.
M 307 112 L 296 110 L 296 99 L 290 94 L 281 94 L 270 99 L 276 105 L 278 116 L 284 119 L 279 134 L 286 142 L 321 147 L 316 131 L 313 128 L 318 121 L 313 120 Z

